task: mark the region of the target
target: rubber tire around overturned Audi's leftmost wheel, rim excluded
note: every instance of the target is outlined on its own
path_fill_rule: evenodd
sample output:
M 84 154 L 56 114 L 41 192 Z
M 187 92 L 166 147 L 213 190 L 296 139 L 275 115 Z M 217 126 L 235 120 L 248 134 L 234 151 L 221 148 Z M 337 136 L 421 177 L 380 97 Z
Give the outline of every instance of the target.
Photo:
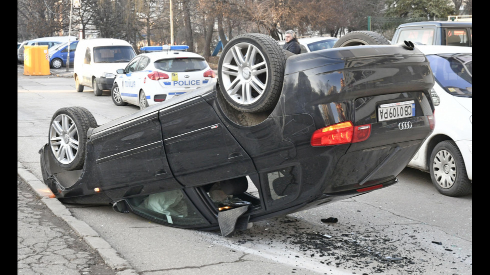
M 82 108 L 82 107 L 79 107 Z M 57 159 L 56 156 L 54 156 L 54 153 L 52 152 L 52 149 L 50 148 L 51 156 L 56 162 L 56 164 L 61 167 L 64 170 L 72 171 L 72 170 L 80 170 L 83 168 L 83 164 L 85 162 L 85 154 L 86 154 L 86 140 L 87 140 L 87 131 L 88 128 L 90 127 L 90 122 L 88 121 L 85 113 L 80 112 L 80 109 L 77 107 L 64 107 L 61 109 L 58 109 L 56 112 L 54 112 L 52 118 L 51 118 L 51 123 L 49 124 L 49 134 L 47 138 L 47 142 L 50 145 L 50 131 L 51 131 L 51 124 L 53 120 L 58 116 L 58 115 L 67 115 L 69 116 L 73 122 L 75 123 L 76 129 L 78 130 L 78 150 L 76 151 L 75 157 L 71 163 L 68 164 L 62 164 L 60 163 Z M 94 119 L 95 120 L 95 119 Z

